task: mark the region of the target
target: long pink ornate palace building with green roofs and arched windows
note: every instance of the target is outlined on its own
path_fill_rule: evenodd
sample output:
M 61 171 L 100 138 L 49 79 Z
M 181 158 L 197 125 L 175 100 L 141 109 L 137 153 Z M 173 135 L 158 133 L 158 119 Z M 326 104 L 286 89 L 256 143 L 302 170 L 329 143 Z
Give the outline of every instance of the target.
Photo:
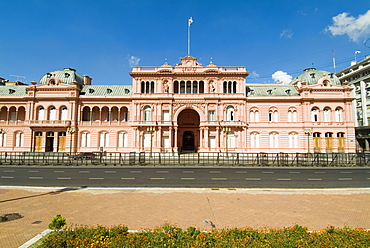
M 249 84 L 245 67 L 133 67 L 132 85 L 92 85 L 72 68 L 0 86 L 0 151 L 355 152 L 352 88 L 304 70 Z

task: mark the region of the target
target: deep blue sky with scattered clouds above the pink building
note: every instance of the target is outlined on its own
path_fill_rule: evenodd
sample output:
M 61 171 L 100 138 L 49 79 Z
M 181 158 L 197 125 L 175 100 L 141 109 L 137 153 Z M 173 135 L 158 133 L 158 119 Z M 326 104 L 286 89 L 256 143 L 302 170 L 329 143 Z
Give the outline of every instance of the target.
M 131 85 L 132 66 L 187 56 L 189 17 L 190 55 L 245 66 L 247 83 L 370 55 L 369 0 L 0 0 L 0 10 L 0 77 L 26 83 L 71 67 L 94 85 Z

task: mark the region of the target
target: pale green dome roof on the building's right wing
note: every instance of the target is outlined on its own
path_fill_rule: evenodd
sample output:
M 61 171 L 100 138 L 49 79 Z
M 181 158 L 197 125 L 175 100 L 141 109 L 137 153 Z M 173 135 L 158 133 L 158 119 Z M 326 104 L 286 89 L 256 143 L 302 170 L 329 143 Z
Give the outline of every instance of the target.
M 316 68 L 307 68 L 303 70 L 303 73 L 294 78 L 292 82 L 290 82 L 290 84 L 301 81 L 306 82 L 307 85 L 314 85 L 317 84 L 317 82 L 323 77 L 329 78 L 331 83 L 334 85 L 341 85 L 339 79 L 337 78 L 337 76 L 335 76 L 334 73 L 327 71 L 318 71 L 316 70 Z

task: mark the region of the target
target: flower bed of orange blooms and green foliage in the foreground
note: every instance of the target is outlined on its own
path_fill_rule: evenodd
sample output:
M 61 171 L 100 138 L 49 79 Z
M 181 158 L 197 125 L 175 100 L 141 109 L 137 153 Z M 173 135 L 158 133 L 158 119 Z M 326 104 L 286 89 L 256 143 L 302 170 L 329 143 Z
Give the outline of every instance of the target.
M 295 225 L 283 229 L 232 228 L 202 232 L 164 224 L 128 232 L 126 226 L 77 226 L 50 233 L 37 247 L 370 247 L 370 232 L 328 227 L 309 232 Z

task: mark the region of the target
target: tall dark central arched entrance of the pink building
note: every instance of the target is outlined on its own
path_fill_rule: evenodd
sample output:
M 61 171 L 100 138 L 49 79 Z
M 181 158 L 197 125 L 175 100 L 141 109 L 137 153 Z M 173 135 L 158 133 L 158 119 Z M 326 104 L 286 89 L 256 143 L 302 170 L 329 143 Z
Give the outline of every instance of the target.
M 178 118 L 177 147 L 180 152 L 196 152 L 199 150 L 199 114 L 193 109 L 183 110 Z

